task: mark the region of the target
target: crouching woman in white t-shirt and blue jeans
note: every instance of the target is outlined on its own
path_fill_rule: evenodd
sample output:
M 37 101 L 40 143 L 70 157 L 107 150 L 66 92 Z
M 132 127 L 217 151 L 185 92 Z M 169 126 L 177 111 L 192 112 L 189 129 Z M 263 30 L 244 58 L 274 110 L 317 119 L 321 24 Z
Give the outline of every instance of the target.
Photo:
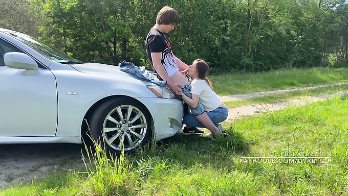
M 196 108 L 198 100 L 200 99 L 205 111 L 214 123 L 215 127 L 208 128 L 212 133 L 212 138 L 215 138 L 217 134 L 224 137 L 229 137 L 224 127 L 219 124 L 226 120 L 228 115 L 227 106 L 220 100 L 219 96 L 213 91 L 211 82 L 208 80 L 207 75 L 209 73 L 208 63 L 201 59 L 193 61 L 189 66 L 187 74 L 191 76 L 191 94 L 192 98 L 181 93 L 182 99 L 186 104 L 192 108 Z M 187 114 L 183 118 L 183 122 L 186 126 L 191 127 L 204 127 L 193 114 Z

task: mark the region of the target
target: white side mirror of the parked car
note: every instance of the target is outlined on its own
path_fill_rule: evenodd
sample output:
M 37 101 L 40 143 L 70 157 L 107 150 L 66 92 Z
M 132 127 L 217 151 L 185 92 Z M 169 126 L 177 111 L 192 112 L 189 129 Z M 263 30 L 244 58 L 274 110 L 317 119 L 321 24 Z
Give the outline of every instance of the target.
M 24 53 L 6 53 L 4 55 L 4 62 L 10 68 L 26 69 L 25 74 L 28 76 L 35 75 L 39 72 L 36 61 Z

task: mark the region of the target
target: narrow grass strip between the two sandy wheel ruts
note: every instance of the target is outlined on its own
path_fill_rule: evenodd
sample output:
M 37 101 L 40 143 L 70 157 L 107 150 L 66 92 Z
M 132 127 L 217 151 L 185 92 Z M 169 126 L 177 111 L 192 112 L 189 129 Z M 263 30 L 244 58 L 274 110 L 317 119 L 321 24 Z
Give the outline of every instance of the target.
M 240 100 L 240 101 L 229 101 L 225 102 L 226 106 L 229 108 L 235 108 L 240 106 L 245 106 L 249 104 L 269 104 L 277 102 L 287 102 L 289 99 L 300 99 L 303 96 L 319 96 L 321 94 L 328 93 L 339 93 L 348 90 L 348 85 L 335 85 L 328 87 L 320 87 L 308 90 L 291 91 L 286 93 L 278 94 L 267 94 L 264 96 L 255 97 L 252 99 Z

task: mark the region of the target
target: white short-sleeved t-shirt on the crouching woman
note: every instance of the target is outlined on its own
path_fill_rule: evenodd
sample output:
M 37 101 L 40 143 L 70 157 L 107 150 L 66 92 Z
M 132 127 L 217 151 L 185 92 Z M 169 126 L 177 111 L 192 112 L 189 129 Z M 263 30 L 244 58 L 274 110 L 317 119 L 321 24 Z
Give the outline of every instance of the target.
M 204 110 L 210 112 L 222 104 L 219 95 L 211 90 L 205 80 L 194 79 L 191 83 L 191 93 L 200 96 Z

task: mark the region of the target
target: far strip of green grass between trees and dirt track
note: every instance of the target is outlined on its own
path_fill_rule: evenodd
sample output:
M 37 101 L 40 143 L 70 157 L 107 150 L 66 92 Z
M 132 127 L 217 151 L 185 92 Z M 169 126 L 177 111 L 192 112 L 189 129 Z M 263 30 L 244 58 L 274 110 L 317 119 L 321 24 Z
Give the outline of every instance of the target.
M 348 69 L 294 68 L 257 74 L 208 76 L 208 78 L 217 94 L 229 95 L 343 82 L 348 80 Z

